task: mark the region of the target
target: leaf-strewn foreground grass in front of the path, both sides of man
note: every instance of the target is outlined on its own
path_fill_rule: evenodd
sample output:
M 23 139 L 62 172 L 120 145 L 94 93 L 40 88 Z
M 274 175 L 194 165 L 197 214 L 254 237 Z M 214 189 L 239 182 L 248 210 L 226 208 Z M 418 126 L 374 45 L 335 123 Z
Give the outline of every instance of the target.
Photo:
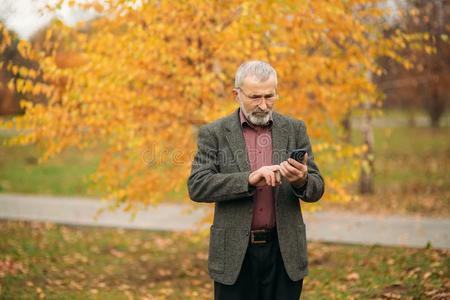
M 449 251 L 309 242 L 308 252 L 302 299 L 450 292 Z M 207 235 L 0 223 L 0 299 L 212 299 L 212 291 Z

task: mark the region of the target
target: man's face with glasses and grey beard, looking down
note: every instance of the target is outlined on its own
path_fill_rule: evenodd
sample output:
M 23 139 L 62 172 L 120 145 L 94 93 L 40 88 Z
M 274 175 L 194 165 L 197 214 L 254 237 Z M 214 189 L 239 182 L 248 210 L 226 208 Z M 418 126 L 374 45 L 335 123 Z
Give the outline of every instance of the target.
M 244 79 L 239 89 L 233 90 L 233 93 L 239 101 L 242 112 L 252 124 L 258 126 L 267 124 L 277 95 L 274 77 L 260 82 L 249 76 Z

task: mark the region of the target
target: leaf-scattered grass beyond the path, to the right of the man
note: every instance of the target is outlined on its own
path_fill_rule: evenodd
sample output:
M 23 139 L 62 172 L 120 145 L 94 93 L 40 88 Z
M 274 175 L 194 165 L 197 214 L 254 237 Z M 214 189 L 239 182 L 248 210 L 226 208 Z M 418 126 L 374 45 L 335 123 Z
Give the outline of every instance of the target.
M 450 216 L 449 128 L 375 128 L 375 193 L 325 209 Z M 354 129 L 352 141 L 360 143 Z M 357 185 L 352 189 L 356 193 Z

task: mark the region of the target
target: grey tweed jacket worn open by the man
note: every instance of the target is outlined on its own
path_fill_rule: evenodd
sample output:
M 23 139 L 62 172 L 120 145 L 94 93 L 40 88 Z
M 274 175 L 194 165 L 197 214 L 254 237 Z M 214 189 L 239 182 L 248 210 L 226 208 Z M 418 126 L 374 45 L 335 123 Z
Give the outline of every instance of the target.
M 274 188 L 281 255 L 289 278 L 298 281 L 308 275 L 306 231 L 299 199 L 318 201 L 324 193 L 324 181 L 314 162 L 305 123 L 275 111 L 272 117 L 272 164 L 287 160 L 294 149 L 306 148 L 308 152 L 306 185 L 294 189 L 282 178 L 281 185 Z M 256 191 L 248 184 L 250 173 L 239 109 L 199 128 L 188 191 L 193 201 L 215 204 L 208 273 L 223 284 L 236 281 L 249 242 Z

